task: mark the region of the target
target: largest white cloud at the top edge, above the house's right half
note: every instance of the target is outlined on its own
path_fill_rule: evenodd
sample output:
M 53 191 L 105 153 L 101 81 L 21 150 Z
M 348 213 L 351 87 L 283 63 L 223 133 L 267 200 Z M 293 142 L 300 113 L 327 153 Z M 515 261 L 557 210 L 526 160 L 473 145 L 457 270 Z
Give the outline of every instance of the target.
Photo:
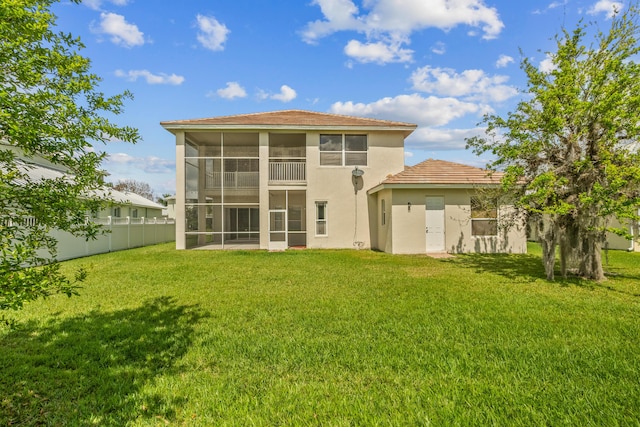
M 504 28 L 498 11 L 483 0 L 404 0 L 402 7 L 397 0 L 365 0 L 365 13 L 352 0 L 314 0 L 312 4 L 320 6 L 324 19 L 308 23 L 303 40 L 316 43 L 338 31 L 362 33 L 366 42 L 352 40 L 345 47 L 345 53 L 361 62 L 410 61 L 413 52 L 402 45 L 410 41 L 411 33 L 425 28 L 448 31 L 468 25 L 481 29 L 485 39 L 496 38 Z

